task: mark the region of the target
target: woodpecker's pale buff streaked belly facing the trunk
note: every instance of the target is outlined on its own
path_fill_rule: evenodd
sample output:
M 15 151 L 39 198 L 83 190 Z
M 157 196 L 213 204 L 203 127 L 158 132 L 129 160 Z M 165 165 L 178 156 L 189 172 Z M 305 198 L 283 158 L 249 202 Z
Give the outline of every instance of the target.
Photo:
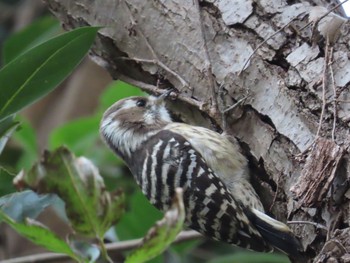
M 264 211 L 258 195 L 249 182 L 247 160 L 233 138 L 230 140 L 225 135 L 185 123 L 170 123 L 164 129 L 181 134 L 201 154 L 208 167 L 215 171 L 231 193 L 245 198 L 245 205 Z M 245 196 L 246 192 L 252 195 L 248 198 Z

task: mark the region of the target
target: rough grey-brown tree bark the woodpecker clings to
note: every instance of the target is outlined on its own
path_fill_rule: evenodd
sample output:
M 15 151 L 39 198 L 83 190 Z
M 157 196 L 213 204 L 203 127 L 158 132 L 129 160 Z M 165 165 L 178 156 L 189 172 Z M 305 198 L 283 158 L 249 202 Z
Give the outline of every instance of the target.
M 327 1 L 46 2 L 67 29 L 104 26 L 91 56 L 115 79 L 172 87 L 181 119 L 235 135 L 310 262 L 350 262 L 350 36 L 348 23 L 328 44 L 314 34 Z

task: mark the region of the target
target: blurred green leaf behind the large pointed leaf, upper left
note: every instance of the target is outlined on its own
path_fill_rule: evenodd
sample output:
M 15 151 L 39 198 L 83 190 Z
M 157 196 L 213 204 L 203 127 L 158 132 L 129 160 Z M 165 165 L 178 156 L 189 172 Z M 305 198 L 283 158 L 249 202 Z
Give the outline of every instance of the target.
M 4 64 L 9 63 L 30 48 L 57 35 L 60 31 L 61 27 L 58 20 L 52 16 L 47 16 L 31 23 L 23 30 L 14 33 L 4 41 Z

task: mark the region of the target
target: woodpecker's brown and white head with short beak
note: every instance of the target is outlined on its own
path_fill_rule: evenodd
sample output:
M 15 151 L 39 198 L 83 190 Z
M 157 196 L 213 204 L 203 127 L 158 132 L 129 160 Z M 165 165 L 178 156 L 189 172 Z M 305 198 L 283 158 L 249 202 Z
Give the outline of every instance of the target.
M 130 97 L 119 100 L 103 115 L 100 133 L 106 143 L 119 155 L 130 155 L 156 131 L 172 122 L 164 98 Z

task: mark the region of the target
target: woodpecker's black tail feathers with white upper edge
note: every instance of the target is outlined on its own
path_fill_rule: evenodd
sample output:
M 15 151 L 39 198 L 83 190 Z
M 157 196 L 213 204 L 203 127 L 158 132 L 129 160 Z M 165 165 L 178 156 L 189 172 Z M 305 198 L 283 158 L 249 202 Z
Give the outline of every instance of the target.
M 248 218 L 259 231 L 261 236 L 273 247 L 290 255 L 297 256 L 302 252 L 300 241 L 294 236 L 289 227 L 263 212 L 249 209 Z

